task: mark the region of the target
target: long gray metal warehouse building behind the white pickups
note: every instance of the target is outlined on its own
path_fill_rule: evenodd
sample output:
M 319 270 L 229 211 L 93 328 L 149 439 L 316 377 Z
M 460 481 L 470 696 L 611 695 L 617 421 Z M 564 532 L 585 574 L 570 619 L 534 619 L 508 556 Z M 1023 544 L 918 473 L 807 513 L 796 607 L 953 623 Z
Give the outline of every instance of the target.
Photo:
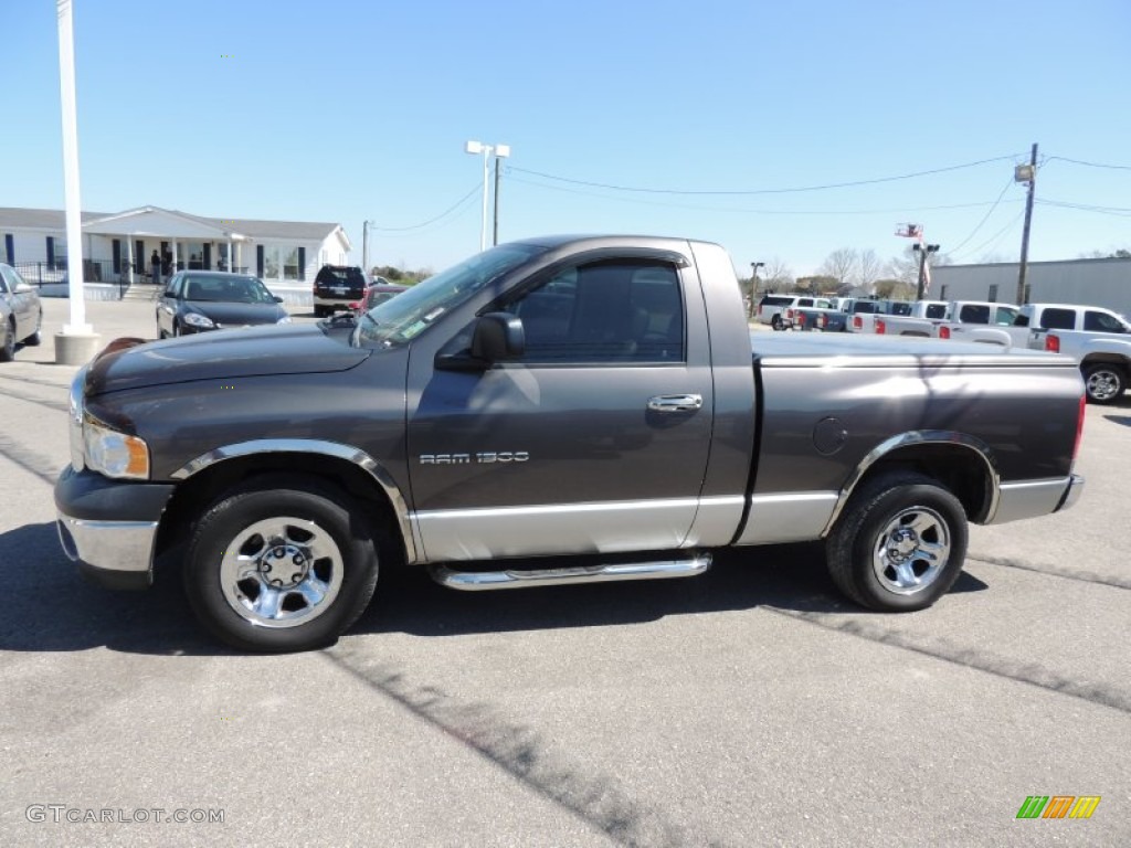
M 1017 300 L 1017 262 L 942 265 L 931 269 L 932 297 L 942 301 Z M 1131 315 L 1131 259 L 1029 262 L 1029 303 L 1079 303 Z

